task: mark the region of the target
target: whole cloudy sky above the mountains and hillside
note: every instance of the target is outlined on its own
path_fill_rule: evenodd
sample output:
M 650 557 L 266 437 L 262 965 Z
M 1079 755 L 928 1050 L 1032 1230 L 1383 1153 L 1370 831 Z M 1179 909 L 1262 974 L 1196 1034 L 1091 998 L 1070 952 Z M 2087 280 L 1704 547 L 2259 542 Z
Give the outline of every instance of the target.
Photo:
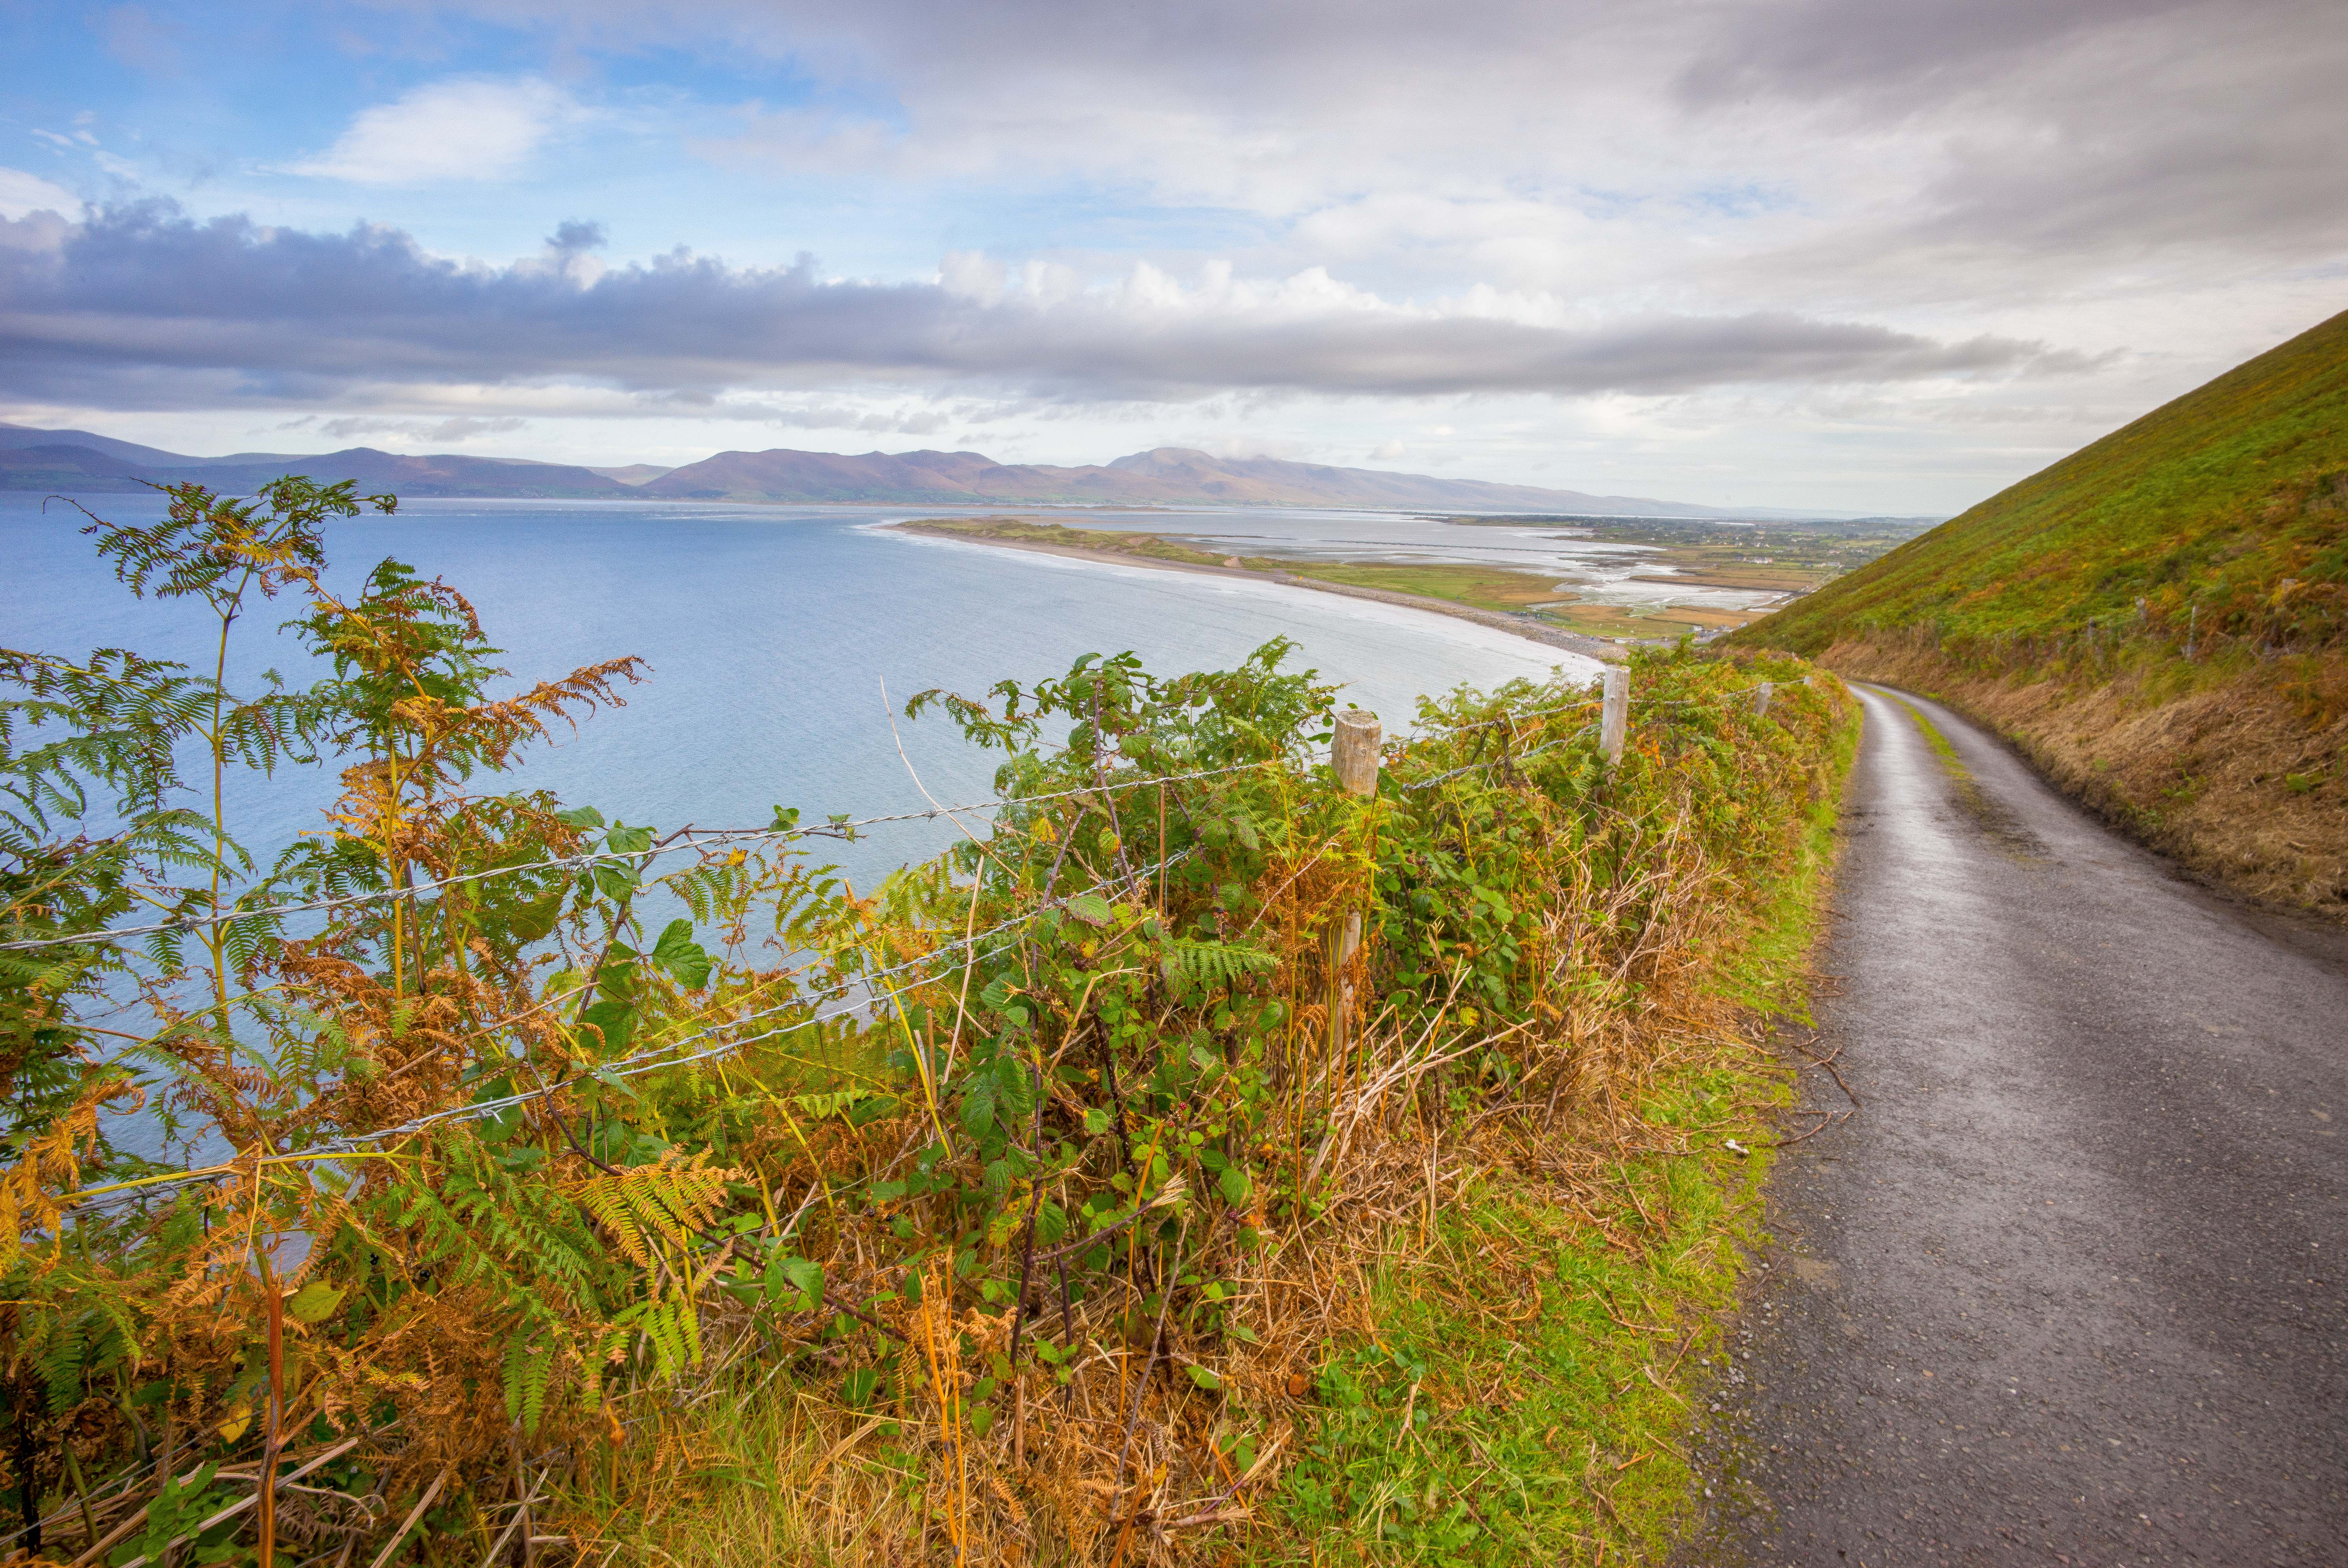
M 0 7 L 0 420 L 1951 514 L 2348 307 L 2339 0 Z

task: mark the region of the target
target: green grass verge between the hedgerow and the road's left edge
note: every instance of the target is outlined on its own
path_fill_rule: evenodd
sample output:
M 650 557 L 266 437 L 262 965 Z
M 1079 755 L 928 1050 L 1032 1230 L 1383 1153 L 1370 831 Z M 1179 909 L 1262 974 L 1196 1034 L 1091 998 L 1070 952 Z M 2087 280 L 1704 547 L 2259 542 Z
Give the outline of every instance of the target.
M 1714 967 L 1655 1019 L 1639 1131 L 1599 1145 L 1453 1117 L 1418 1155 L 1423 1211 L 1367 1277 L 1357 1340 L 1315 1378 L 1251 1561 L 1662 1561 L 1700 1512 L 1688 1437 L 1763 1244 L 1775 1148 L 1810 1023 L 1850 704 L 1799 847 L 1749 890 Z M 1827 1115 L 1827 1113 L 1808 1113 Z M 1275 1545 L 1277 1542 L 1277 1545 Z

